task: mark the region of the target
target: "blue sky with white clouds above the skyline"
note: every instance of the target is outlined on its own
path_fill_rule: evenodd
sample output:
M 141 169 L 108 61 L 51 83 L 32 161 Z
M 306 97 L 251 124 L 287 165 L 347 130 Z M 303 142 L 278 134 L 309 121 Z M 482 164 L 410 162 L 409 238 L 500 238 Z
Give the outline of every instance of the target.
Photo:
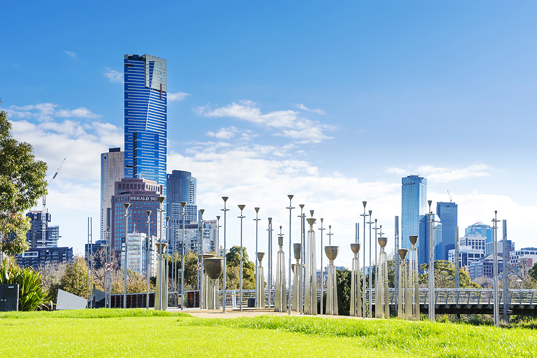
M 60 244 L 79 250 L 85 218 L 98 221 L 99 154 L 123 146 L 126 53 L 168 60 L 168 171 L 193 172 L 209 217 L 227 195 L 285 232 L 295 193 L 347 246 L 368 200 L 393 241 L 412 173 L 434 202 L 452 192 L 461 227 L 498 210 L 520 248 L 537 229 L 536 12 L 523 1 L 7 3 L 0 98 L 39 158 L 67 158 L 49 211 Z

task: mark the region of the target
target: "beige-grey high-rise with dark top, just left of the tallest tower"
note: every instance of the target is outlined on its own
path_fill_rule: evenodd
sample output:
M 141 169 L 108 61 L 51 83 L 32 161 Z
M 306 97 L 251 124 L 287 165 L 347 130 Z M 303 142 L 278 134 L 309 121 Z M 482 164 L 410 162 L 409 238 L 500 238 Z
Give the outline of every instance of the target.
M 106 209 L 112 207 L 114 183 L 121 181 L 124 173 L 125 152 L 121 148 L 110 148 L 101 154 L 100 240 L 106 241 Z

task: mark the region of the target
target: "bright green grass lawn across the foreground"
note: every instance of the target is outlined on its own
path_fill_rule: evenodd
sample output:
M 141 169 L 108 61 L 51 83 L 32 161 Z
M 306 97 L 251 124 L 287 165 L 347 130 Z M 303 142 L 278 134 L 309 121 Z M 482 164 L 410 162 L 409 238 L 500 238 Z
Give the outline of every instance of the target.
M 0 314 L 0 356 L 535 357 L 537 331 L 318 317 L 202 319 L 152 310 Z

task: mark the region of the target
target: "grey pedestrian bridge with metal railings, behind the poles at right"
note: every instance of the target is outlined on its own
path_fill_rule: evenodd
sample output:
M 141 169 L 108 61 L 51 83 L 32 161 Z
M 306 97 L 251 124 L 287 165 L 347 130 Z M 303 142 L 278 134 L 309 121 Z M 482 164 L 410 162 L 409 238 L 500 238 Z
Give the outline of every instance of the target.
M 374 290 L 373 290 L 374 293 Z M 504 300 L 503 289 L 499 290 L 499 310 L 502 314 L 504 302 L 508 315 L 537 316 L 537 289 L 508 289 Z M 396 293 L 389 289 L 390 311 L 395 312 Z M 366 302 L 369 290 L 366 291 Z M 420 312 L 429 312 L 429 289 L 419 289 Z M 375 297 L 373 295 L 373 306 Z M 436 314 L 494 314 L 494 290 L 489 288 L 435 288 L 434 307 Z

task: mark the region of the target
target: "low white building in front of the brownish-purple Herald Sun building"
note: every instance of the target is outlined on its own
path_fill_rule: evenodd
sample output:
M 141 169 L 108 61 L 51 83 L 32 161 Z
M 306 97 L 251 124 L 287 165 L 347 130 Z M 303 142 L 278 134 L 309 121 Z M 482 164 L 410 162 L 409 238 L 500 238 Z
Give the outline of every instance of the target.
M 127 247 L 127 268 L 137 273 L 146 273 L 147 262 L 147 235 L 145 233 L 127 234 L 128 247 Z M 158 242 L 158 238 L 154 235 L 149 237 L 149 273 L 154 275 L 155 266 L 157 263 L 157 249 L 155 243 Z M 121 245 L 121 269 L 125 267 L 125 238 L 122 239 Z

